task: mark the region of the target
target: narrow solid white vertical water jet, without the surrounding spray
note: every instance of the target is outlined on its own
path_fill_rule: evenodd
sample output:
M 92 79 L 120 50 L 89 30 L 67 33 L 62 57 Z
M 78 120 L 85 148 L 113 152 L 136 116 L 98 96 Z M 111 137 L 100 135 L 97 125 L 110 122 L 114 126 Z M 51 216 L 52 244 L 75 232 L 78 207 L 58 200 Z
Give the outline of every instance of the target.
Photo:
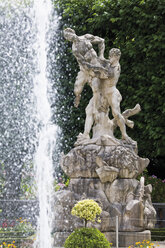
M 35 154 L 36 182 L 39 199 L 38 232 L 35 247 L 51 248 L 51 196 L 53 185 L 52 152 L 55 143 L 56 126 L 51 123 L 51 108 L 48 101 L 47 78 L 47 32 L 51 16 L 50 0 L 34 0 L 37 28 L 38 73 L 34 78 L 37 118 L 40 127 L 38 147 Z

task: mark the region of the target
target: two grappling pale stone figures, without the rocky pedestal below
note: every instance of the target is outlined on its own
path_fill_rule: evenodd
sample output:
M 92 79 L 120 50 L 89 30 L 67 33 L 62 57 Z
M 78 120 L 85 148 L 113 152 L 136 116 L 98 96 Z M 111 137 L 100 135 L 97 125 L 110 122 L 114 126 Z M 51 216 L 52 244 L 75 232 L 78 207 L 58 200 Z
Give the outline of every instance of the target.
M 91 142 L 96 142 L 96 140 L 102 138 L 108 140 L 107 144 L 119 144 L 119 141 L 113 135 L 116 126 L 120 128 L 122 140 L 135 144 L 136 142 L 127 135 L 126 125 L 133 128 L 134 123 L 128 120 L 128 117 L 138 113 L 140 105 L 136 105 L 134 109 L 129 111 L 126 110 L 127 115 L 121 113 L 120 102 L 122 96 L 116 88 L 121 70 L 119 63 L 120 50 L 112 48 L 109 51 L 109 59 L 105 59 L 104 39 L 91 34 L 77 36 L 75 31 L 70 28 L 64 30 L 64 37 L 73 42 L 73 55 L 80 67 L 74 86 L 75 107 L 79 105 L 85 83 L 90 85 L 93 92 L 93 97 L 86 107 L 84 133 L 79 134 L 76 145 L 90 142 L 89 134 L 92 127 L 93 139 Z M 97 56 L 92 44 L 98 44 L 99 56 Z M 113 120 L 109 119 L 110 108 L 114 117 Z

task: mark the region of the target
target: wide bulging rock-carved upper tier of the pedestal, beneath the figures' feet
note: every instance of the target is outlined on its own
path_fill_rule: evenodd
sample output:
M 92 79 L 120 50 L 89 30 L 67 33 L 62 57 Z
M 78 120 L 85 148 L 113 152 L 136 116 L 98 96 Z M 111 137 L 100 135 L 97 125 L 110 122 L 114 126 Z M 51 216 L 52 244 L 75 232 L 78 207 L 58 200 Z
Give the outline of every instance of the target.
M 132 146 L 88 144 L 63 155 L 61 168 L 70 178 L 100 178 L 105 183 L 116 178 L 136 178 L 148 163 L 149 160 L 139 157 Z

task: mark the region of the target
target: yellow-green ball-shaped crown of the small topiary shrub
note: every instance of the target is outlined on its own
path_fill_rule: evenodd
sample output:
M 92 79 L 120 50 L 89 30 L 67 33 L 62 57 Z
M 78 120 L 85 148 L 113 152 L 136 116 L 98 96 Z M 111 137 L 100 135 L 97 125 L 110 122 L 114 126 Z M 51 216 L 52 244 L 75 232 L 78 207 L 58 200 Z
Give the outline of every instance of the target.
M 87 223 L 87 221 L 100 222 L 98 216 L 101 212 L 102 209 L 97 202 L 92 199 L 85 199 L 76 203 L 71 213 L 80 219 L 84 219 L 85 223 Z

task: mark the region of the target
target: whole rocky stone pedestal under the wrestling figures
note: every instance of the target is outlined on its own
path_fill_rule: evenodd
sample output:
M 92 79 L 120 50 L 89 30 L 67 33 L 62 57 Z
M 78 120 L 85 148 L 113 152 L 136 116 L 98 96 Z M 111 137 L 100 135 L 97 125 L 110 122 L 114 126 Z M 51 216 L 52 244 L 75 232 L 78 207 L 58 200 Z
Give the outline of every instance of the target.
M 151 202 L 151 185 L 136 177 L 149 163 L 129 146 L 84 145 L 63 155 L 61 167 L 70 177 L 67 190 L 55 193 L 55 247 L 62 247 L 75 228 L 83 227 L 79 218 L 71 215 L 74 204 L 82 199 L 94 199 L 102 207 L 101 223 L 89 226 L 105 233 L 115 245 L 116 216 L 119 226 L 119 247 L 151 239 L 156 211 Z

